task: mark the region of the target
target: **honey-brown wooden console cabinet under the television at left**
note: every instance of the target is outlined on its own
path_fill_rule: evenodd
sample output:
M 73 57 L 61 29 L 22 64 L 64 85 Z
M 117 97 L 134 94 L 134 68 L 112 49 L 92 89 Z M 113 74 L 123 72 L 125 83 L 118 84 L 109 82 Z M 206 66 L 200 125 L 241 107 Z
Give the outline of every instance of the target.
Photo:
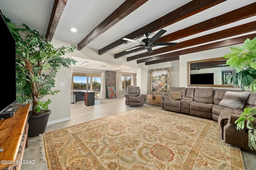
M 13 117 L 0 120 L 0 170 L 20 170 L 28 146 L 28 111 L 30 104 L 18 106 Z

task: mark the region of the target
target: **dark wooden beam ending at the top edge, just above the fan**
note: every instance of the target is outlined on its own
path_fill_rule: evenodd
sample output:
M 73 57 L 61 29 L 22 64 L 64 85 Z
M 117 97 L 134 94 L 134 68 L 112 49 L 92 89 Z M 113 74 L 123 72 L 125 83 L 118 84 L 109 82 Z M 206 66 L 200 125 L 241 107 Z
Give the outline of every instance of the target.
M 215 6 L 217 4 L 220 4 L 226 0 L 192 0 L 191 2 L 185 4 L 184 6 L 170 12 L 169 14 L 166 14 L 165 16 L 149 23 L 148 25 L 124 36 L 129 39 L 138 39 L 144 35 L 146 32 L 154 32 L 159 29 L 162 29 L 168 25 L 171 25 L 172 23 L 175 23 L 177 21 L 183 20 L 184 18 L 188 18 L 189 16 L 192 16 L 194 14 L 197 14 L 198 12 L 201 12 L 203 10 L 206 10 L 212 6 Z M 122 38 L 124 38 L 122 37 Z M 120 47 L 121 45 L 124 45 L 127 43 L 127 41 L 123 39 L 119 39 L 115 41 L 114 43 L 111 43 L 110 45 L 107 45 L 106 47 L 100 49 L 98 51 L 99 55 L 102 55 L 104 53 L 107 53 L 108 51 L 111 51 L 117 47 Z

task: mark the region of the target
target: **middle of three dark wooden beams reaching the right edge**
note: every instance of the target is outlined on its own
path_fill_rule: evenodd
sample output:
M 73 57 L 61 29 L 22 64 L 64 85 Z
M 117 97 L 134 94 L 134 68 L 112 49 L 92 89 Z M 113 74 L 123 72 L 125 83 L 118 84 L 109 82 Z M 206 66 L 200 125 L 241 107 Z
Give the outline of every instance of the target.
M 153 56 L 153 55 L 158 55 L 160 53 L 167 53 L 169 51 L 182 49 L 182 48 L 190 47 L 190 46 L 193 46 L 193 45 L 199 45 L 199 44 L 207 43 L 207 42 L 211 42 L 211 41 L 216 41 L 218 39 L 224 39 L 224 38 L 232 37 L 232 36 L 235 36 L 235 35 L 248 33 L 248 32 L 251 32 L 251 31 L 256 31 L 256 21 L 246 23 L 246 24 L 243 24 L 243 25 L 239 25 L 239 26 L 236 26 L 236 27 L 232 27 L 232 28 L 229 28 L 229 29 L 224 29 L 222 31 L 218 31 L 218 32 L 211 33 L 211 34 L 208 34 L 208 35 L 204 35 L 204 36 L 201 36 L 201 37 L 197 37 L 197 38 L 194 38 L 194 39 L 189 39 L 187 41 L 177 43 L 174 46 L 166 46 L 166 47 L 162 47 L 162 48 L 159 48 L 159 49 L 155 49 L 153 51 L 153 53 L 142 53 L 142 54 L 134 55 L 132 57 L 127 57 L 127 61 L 132 61 L 132 60 L 136 60 L 136 59 L 150 57 L 150 56 Z

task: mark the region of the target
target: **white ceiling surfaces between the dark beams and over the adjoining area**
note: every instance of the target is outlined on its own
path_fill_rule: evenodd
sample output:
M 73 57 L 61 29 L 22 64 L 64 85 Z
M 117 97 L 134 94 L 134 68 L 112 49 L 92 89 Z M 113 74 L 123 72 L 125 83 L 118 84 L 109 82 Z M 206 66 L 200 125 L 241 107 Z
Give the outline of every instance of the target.
M 145 4 L 134 10 L 134 12 L 126 16 L 123 20 L 119 21 L 110 29 L 102 33 L 86 47 L 95 50 L 102 49 L 110 43 L 113 43 L 114 41 L 125 37 L 133 31 L 140 29 L 141 27 L 147 25 L 148 23 L 151 23 L 154 20 L 157 20 L 158 18 L 161 18 L 162 16 L 187 4 L 190 1 L 191 0 L 148 0 Z M 123 2 L 125 2 L 125 0 L 67 0 L 67 4 L 64 8 L 53 38 L 68 41 L 73 44 L 78 44 L 82 39 L 84 39 L 84 37 L 86 37 L 86 35 L 88 35 L 95 27 L 97 27 L 112 12 L 114 12 L 114 10 L 116 10 Z M 202 12 L 180 20 L 176 23 L 173 23 L 172 25 L 164 27 L 163 29 L 167 30 L 164 35 L 173 33 L 180 29 L 184 29 L 186 27 L 189 27 L 196 23 L 200 23 L 210 18 L 225 14 L 248 4 L 252 4 L 254 2 L 256 2 L 256 0 L 226 0 L 225 2 L 217 4 L 216 6 L 208 8 Z M 17 26 L 25 23 L 31 29 L 36 29 L 41 34 L 45 35 L 48 28 L 53 4 L 54 0 L 0 0 L 0 9 L 3 15 L 15 22 Z M 188 39 L 207 35 L 252 21 L 256 21 L 255 16 L 227 25 L 223 25 L 221 27 L 210 29 L 202 33 L 197 33 L 195 35 L 191 35 L 182 39 L 177 39 L 175 42 L 180 43 Z M 77 32 L 71 32 L 71 27 L 76 28 Z M 143 38 L 137 40 L 140 41 L 141 39 Z M 137 45 L 138 44 L 136 43 L 130 42 L 108 53 L 113 54 L 114 58 L 114 54 L 120 53 L 126 49 L 135 47 Z M 154 47 L 153 51 L 154 49 L 160 47 L 163 46 Z M 140 53 L 145 53 L 145 51 L 140 51 L 135 54 Z M 132 55 L 126 55 L 124 57 L 130 57 Z M 76 60 L 78 61 L 78 64 L 76 64 L 77 67 L 80 66 L 80 63 L 85 62 L 84 59 L 76 58 Z M 96 61 L 90 61 L 90 63 L 90 66 L 92 66 L 92 68 L 95 68 L 96 66 L 93 64 L 98 64 L 100 66 L 106 65 L 105 68 L 102 67 L 102 70 L 107 70 L 107 68 L 112 70 L 112 68 L 118 66 L 115 64 L 99 63 Z M 88 64 L 87 68 L 90 69 L 90 66 Z M 123 72 L 135 72 L 135 68 L 123 66 L 122 68 L 124 68 L 122 70 Z

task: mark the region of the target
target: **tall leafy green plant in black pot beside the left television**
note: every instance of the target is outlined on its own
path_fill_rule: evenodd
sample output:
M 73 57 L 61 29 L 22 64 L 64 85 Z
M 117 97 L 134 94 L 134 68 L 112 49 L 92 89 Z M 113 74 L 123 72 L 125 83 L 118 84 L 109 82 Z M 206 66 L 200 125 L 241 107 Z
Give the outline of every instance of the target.
M 48 95 L 55 95 L 60 90 L 52 90 L 55 77 L 61 66 L 75 64 L 74 59 L 62 55 L 74 52 L 76 46 L 54 48 L 46 42 L 44 35 L 22 24 L 17 28 L 8 18 L 6 23 L 16 40 L 16 102 L 30 103 L 28 137 L 44 133 L 51 113 L 48 106 L 51 100 Z

